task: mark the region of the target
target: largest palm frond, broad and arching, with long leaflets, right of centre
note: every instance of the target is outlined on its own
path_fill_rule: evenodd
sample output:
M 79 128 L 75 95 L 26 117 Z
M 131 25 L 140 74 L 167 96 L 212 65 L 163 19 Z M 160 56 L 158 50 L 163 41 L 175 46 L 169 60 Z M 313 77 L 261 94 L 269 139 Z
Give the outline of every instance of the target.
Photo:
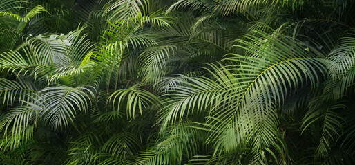
M 271 147 L 271 142 L 275 142 L 278 136 L 276 106 L 282 104 L 289 94 L 287 91 L 298 85 L 316 87 L 320 81 L 318 75 L 325 72 L 322 61 L 315 58 L 316 54 L 277 32 L 268 35 L 256 31 L 253 36 L 244 36 L 237 42 L 236 47 L 245 50 L 247 56 L 230 54 L 229 60 L 236 65 L 227 65 L 225 69 L 211 65 L 211 74 L 217 79 L 214 82 L 200 79 L 190 87 L 175 87 L 178 89 L 175 91 L 177 96 L 173 96 L 175 101 L 162 111 L 166 114 L 161 117 L 166 123 L 163 126 L 167 126 L 193 111 L 199 111 L 200 108 L 194 107 L 195 103 L 196 106 L 209 105 L 209 140 L 215 142 L 217 153 L 228 153 L 242 147 L 250 147 L 253 151 Z M 202 95 L 204 93 L 198 89 L 206 87 L 211 89 L 204 89 L 207 92 Z M 193 93 L 187 93 L 191 90 L 196 90 L 198 95 L 191 98 Z M 204 102 L 210 99 L 211 104 Z M 184 100 L 185 103 L 176 100 Z

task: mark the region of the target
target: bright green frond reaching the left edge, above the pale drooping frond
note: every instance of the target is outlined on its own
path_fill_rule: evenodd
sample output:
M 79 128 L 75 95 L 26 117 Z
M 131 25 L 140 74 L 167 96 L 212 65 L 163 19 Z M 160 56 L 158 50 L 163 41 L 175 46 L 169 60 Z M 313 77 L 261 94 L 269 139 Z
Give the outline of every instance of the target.
M 0 54 L 1 69 L 8 69 L 17 75 L 31 75 L 35 78 L 46 78 L 58 66 L 68 65 L 64 41 L 39 35 L 23 43 L 16 52 Z

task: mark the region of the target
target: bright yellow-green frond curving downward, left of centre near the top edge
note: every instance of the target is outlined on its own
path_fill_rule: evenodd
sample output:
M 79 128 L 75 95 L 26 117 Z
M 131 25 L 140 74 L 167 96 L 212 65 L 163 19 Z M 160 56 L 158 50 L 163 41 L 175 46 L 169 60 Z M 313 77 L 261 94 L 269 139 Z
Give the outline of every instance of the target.
M 103 38 L 106 43 L 103 43 L 100 47 L 100 52 L 97 53 L 95 58 L 100 62 L 97 63 L 98 69 L 106 71 L 108 88 L 114 82 L 113 80 L 116 80 L 115 86 L 117 86 L 122 64 L 135 54 L 135 50 L 157 44 L 155 41 L 157 35 L 144 28 L 146 23 L 157 26 L 169 25 L 166 17 L 154 14 L 145 17 L 137 14 L 136 17 L 117 21 L 115 24 L 111 23 L 112 29 L 105 32 Z

